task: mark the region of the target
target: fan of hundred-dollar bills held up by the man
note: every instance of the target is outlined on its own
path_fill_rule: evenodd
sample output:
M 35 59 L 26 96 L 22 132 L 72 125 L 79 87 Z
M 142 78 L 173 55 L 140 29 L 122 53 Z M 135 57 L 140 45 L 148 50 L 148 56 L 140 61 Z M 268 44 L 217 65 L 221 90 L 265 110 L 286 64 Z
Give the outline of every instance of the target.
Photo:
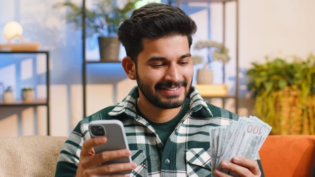
M 219 168 L 228 173 L 220 167 L 220 163 L 230 161 L 235 156 L 256 159 L 270 130 L 271 126 L 255 116 L 240 117 L 229 125 L 211 127 L 211 170 Z

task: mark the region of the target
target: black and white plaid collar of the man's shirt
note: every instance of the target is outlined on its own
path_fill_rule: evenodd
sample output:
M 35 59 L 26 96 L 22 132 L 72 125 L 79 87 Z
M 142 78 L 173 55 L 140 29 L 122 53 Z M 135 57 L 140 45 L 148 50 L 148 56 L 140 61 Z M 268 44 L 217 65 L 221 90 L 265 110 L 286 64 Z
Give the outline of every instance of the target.
M 129 92 L 127 97 L 117 104 L 109 113 L 110 116 L 117 116 L 120 114 L 127 114 L 132 117 L 137 117 L 137 111 L 136 111 L 136 105 L 137 105 L 137 99 L 139 97 L 139 91 L 138 86 L 134 86 L 132 90 Z M 190 87 L 189 94 L 187 96 L 190 99 L 189 103 L 189 109 L 193 112 L 199 111 L 201 109 L 205 109 L 210 116 L 213 117 L 212 112 L 207 106 L 207 103 L 204 101 L 204 99 L 199 94 L 198 90 L 195 89 L 194 86 Z

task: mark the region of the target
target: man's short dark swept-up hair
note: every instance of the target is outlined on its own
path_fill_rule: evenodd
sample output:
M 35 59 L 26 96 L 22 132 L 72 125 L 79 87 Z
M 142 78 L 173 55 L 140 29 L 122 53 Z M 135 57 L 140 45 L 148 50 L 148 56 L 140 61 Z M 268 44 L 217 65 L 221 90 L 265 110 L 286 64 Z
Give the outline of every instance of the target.
M 189 48 L 191 35 L 196 32 L 196 24 L 181 9 L 171 5 L 152 3 L 135 10 L 130 19 L 124 21 L 118 30 L 119 40 L 125 47 L 127 56 L 137 62 L 143 50 L 143 38 L 157 39 L 171 35 L 186 35 Z

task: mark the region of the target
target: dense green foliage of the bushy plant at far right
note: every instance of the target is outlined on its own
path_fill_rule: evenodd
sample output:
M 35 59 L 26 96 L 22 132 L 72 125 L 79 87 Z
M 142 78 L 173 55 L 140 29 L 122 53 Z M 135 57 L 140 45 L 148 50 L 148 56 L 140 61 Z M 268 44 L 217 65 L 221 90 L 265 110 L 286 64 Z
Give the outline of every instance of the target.
M 294 87 L 304 92 L 315 94 L 315 57 L 310 54 L 306 61 L 294 58 L 265 58 L 264 63 L 253 62 L 248 69 L 248 90 L 253 97 Z

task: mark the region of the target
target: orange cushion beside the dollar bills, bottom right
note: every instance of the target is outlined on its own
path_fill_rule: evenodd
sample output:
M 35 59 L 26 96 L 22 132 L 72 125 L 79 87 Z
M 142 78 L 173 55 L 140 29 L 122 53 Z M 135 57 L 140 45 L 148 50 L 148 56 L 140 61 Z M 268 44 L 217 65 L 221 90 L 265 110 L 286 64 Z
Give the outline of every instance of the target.
M 312 176 L 315 135 L 270 135 L 260 151 L 265 176 Z

